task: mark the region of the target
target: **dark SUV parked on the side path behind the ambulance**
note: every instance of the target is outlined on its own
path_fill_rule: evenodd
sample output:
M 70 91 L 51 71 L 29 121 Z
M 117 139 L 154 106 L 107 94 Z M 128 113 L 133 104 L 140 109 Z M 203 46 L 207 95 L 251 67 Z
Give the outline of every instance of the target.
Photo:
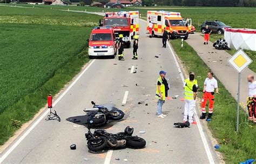
M 205 31 L 205 27 L 206 25 L 208 25 L 208 28 L 210 30 L 212 30 L 212 32 L 221 34 L 224 33 L 224 29 L 225 28 L 231 28 L 231 26 L 227 26 L 225 25 L 225 23 L 223 22 L 219 22 L 218 20 L 215 21 L 205 21 L 202 25 L 201 25 L 201 32 L 204 33 Z

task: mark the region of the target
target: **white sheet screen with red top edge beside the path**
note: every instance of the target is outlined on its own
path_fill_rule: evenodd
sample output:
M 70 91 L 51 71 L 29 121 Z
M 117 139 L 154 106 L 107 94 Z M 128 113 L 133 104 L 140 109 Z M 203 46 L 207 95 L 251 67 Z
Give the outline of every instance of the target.
M 256 51 L 256 30 L 227 28 L 224 38 L 231 48 Z

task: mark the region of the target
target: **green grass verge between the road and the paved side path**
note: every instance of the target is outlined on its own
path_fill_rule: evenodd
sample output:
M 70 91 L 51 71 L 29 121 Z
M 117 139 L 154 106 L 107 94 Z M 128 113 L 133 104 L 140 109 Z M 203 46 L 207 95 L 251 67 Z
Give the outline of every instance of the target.
M 198 79 L 199 86 L 203 86 L 208 67 L 198 56 L 196 51 L 184 43 L 180 46 L 180 39 L 172 40 L 171 44 L 178 57 L 184 62 L 186 69 L 194 71 Z M 218 79 L 217 79 L 218 80 Z M 247 119 L 247 113 L 240 108 L 239 133 L 235 132 L 237 101 L 226 90 L 218 80 L 220 94 L 215 96 L 214 113 L 211 122 L 208 122 L 214 138 L 220 144 L 218 151 L 222 152 L 225 161 L 228 163 L 239 163 L 246 159 L 256 158 L 254 138 L 256 136 L 256 126 Z M 202 97 L 202 93 L 199 93 Z

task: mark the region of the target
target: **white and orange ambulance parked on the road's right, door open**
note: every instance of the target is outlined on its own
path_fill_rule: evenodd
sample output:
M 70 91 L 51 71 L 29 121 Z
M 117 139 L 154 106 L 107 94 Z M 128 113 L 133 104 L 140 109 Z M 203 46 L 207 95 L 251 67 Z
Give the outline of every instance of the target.
M 149 22 L 153 23 L 152 37 L 162 36 L 164 28 L 168 31 L 170 38 L 187 39 L 189 30 L 191 30 L 191 19 L 186 23 L 180 12 L 171 11 L 147 11 L 147 31 L 149 32 Z

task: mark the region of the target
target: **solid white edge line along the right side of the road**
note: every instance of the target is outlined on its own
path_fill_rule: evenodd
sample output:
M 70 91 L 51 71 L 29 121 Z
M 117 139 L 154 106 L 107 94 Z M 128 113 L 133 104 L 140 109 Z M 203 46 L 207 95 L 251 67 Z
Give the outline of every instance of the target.
M 168 44 L 168 46 L 169 46 L 169 49 L 171 50 L 172 56 L 173 56 L 173 58 L 174 58 L 174 61 L 175 61 L 176 65 L 177 65 L 177 67 L 178 67 L 178 71 L 180 72 L 179 74 L 180 74 L 180 77 L 181 77 L 181 80 L 182 80 L 182 83 L 183 83 L 183 82 L 184 82 L 184 76 L 183 76 L 183 73 L 182 73 L 181 70 L 180 70 L 180 66 L 179 66 L 179 63 L 178 63 L 178 61 L 177 61 L 177 58 L 176 58 L 175 54 L 174 54 L 173 51 L 172 51 L 172 48 L 171 48 L 171 46 L 170 46 L 170 43 L 168 42 L 167 44 Z M 208 160 L 209 160 L 209 162 L 210 162 L 211 164 L 214 164 L 214 160 L 213 160 L 213 157 L 212 157 L 212 153 L 211 153 L 210 148 L 209 148 L 209 146 L 208 146 L 208 143 L 207 143 L 205 134 L 204 134 L 204 132 L 203 132 L 203 128 L 202 128 L 202 126 L 201 126 L 201 123 L 200 123 L 200 121 L 199 121 L 199 119 L 198 119 L 197 111 L 196 111 L 196 110 L 195 110 L 195 113 L 196 113 L 196 114 L 194 115 L 194 117 L 196 118 L 196 121 L 197 121 L 197 126 L 198 126 L 199 133 L 200 133 L 201 139 L 202 139 L 203 144 L 204 144 L 204 147 L 205 147 L 205 151 L 206 151 Z

